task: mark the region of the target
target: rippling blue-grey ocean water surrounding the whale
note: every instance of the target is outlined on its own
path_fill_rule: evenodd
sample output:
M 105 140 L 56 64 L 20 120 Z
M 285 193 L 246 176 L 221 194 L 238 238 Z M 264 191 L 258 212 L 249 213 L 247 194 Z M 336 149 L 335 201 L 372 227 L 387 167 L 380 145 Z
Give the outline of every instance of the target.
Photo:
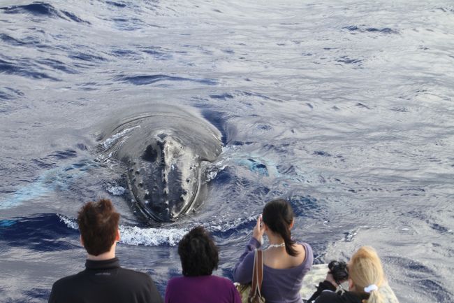
M 99 134 L 159 104 L 223 150 L 203 204 L 149 226 Z M 316 263 L 372 245 L 400 302 L 454 302 L 451 0 L 0 0 L 0 139 L 0 302 L 47 302 L 84 268 L 76 213 L 100 197 L 122 213 L 122 265 L 161 293 L 191 227 L 230 278 L 285 197 Z

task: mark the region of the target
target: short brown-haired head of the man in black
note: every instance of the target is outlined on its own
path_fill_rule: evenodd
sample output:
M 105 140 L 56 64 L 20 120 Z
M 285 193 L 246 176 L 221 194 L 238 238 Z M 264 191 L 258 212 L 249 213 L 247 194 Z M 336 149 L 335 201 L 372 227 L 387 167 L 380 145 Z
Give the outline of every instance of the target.
M 78 213 L 80 238 L 89 255 L 107 253 L 119 239 L 117 213 L 109 199 L 88 202 Z

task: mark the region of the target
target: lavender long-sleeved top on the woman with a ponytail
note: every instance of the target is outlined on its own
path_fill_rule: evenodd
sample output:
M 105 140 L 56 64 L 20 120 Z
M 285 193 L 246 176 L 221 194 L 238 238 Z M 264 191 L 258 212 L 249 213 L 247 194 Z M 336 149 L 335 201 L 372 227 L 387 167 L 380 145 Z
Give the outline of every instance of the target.
M 309 272 L 314 262 L 312 248 L 307 243 L 301 244 L 306 251 L 305 260 L 298 266 L 275 269 L 263 265 L 263 282 L 261 293 L 266 303 L 302 303 L 300 290 L 302 278 Z M 252 281 L 252 269 L 254 267 L 254 250 L 261 244 L 255 238 L 249 241 L 246 251 L 241 255 L 233 271 L 233 281 L 238 283 L 250 283 Z

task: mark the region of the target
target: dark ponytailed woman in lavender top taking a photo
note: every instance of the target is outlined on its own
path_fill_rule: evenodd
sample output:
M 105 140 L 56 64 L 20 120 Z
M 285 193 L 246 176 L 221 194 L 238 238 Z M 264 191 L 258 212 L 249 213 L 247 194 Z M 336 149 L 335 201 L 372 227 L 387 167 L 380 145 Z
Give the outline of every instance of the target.
M 302 279 L 314 261 L 307 243 L 291 239 L 293 210 L 284 199 L 274 199 L 263 208 L 252 238 L 235 265 L 233 280 L 250 283 L 254 266 L 254 250 L 261 248 L 260 239 L 268 236 L 270 245 L 263 251 L 263 282 L 261 293 L 267 303 L 302 303 Z

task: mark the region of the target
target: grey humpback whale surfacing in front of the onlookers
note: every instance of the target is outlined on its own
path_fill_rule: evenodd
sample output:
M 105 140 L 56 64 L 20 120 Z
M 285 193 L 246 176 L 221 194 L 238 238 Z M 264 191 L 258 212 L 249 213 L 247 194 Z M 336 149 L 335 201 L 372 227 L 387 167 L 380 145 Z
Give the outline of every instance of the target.
M 158 223 L 176 220 L 203 199 L 205 168 L 222 150 L 221 133 L 210 122 L 167 105 L 125 115 L 98 139 L 104 157 L 126 171 L 131 202 Z

